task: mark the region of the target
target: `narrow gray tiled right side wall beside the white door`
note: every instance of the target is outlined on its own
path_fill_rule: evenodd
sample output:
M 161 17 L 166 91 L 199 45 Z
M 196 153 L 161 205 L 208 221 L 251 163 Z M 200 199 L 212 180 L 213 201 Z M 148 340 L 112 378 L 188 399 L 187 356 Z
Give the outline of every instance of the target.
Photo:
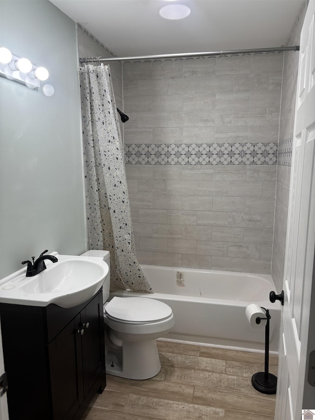
M 294 26 L 287 45 L 299 45 L 306 6 Z M 272 277 L 277 290 L 283 289 L 286 226 L 290 190 L 292 141 L 297 91 L 299 54 L 288 51 L 284 54 L 284 75 L 281 98 L 277 190 L 275 206 L 275 233 L 272 253 Z

